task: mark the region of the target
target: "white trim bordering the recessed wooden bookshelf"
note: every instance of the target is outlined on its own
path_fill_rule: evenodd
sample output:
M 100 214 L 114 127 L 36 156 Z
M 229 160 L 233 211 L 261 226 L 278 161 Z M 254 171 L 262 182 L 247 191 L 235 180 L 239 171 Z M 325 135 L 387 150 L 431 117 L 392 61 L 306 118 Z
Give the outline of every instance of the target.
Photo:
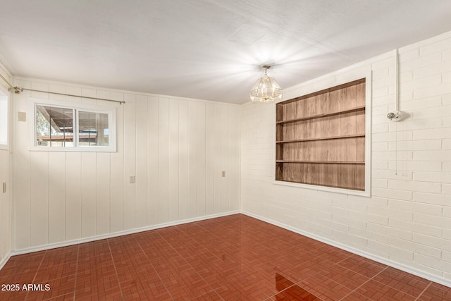
M 334 87 L 337 85 L 345 84 L 346 82 L 352 82 L 354 80 L 359 80 L 360 78 L 366 78 L 365 82 L 365 190 L 359 191 L 359 190 L 350 190 L 345 188 L 333 188 L 328 186 L 321 186 L 321 185 L 309 185 L 309 184 L 303 184 L 303 183 L 293 183 L 293 182 L 285 182 L 276 180 L 276 105 L 273 106 L 273 159 L 272 159 L 272 168 L 273 168 L 273 184 L 275 185 L 283 185 L 283 186 L 291 186 L 295 188 L 307 188 L 312 190 L 321 190 L 321 191 L 328 191 L 328 192 L 338 192 L 343 193 L 346 195 L 359 195 L 362 197 L 371 197 L 371 104 L 372 104 L 372 73 L 371 70 L 364 71 L 364 72 L 357 72 L 353 73 L 351 72 L 350 75 L 342 75 L 340 73 L 332 73 L 330 78 L 333 78 L 333 75 L 341 75 L 340 80 L 335 80 L 333 82 L 325 82 L 322 83 L 322 85 L 316 85 L 315 90 L 321 91 L 324 89 L 327 89 L 328 87 Z M 315 92 L 315 91 L 311 91 Z M 309 92 L 302 92 L 302 95 L 309 94 Z M 297 95 L 301 96 L 301 95 Z M 288 99 L 297 97 L 297 96 L 290 96 Z M 285 101 L 284 99 L 281 99 L 279 102 Z

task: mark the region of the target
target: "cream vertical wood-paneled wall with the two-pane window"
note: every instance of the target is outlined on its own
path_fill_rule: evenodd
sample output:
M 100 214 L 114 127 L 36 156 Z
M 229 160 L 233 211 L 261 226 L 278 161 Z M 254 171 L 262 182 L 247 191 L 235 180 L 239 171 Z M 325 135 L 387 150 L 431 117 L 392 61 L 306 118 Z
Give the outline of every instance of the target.
M 18 79 L 16 250 L 239 209 L 240 106 Z M 30 152 L 29 97 L 117 107 L 117 152 Z M 226 177 L 221 176 L 226 171 Z M 129 177 L 136 176 L 136 183 Z

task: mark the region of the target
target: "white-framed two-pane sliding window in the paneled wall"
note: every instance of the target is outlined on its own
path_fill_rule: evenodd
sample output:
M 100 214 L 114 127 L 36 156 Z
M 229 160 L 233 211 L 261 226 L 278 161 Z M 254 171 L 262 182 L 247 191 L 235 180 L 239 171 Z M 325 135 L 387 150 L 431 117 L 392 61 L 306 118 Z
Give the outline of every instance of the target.
M 32 101 L 32 149 L 115 152 L 116 111 L 110 107 Z

